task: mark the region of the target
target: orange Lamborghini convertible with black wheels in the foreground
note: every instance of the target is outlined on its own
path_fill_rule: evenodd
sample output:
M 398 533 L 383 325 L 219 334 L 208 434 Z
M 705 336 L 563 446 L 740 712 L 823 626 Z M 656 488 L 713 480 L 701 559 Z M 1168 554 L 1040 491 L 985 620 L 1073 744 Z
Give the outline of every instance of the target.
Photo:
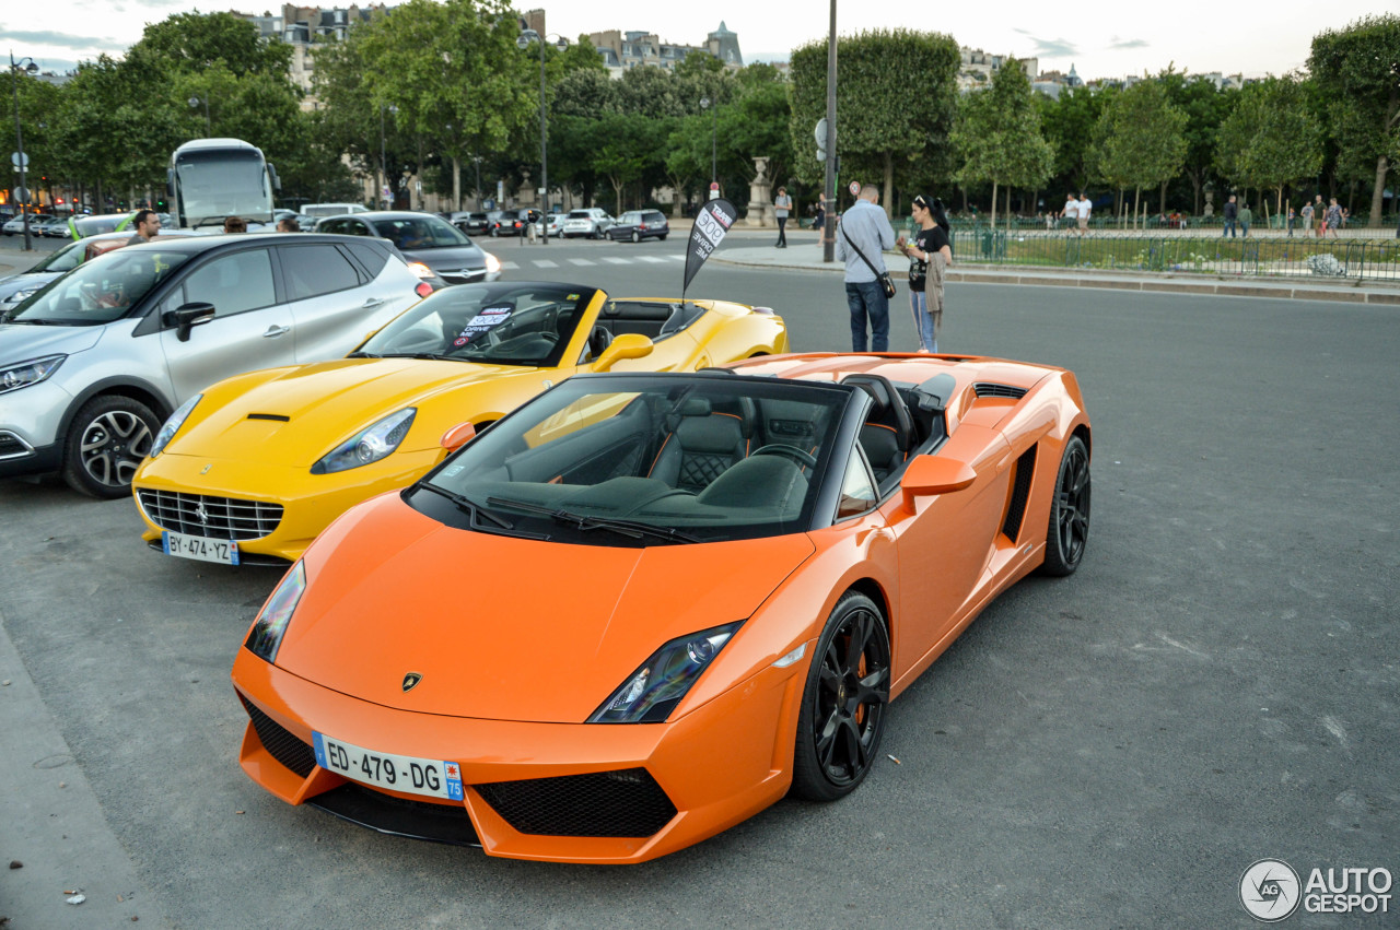
M 242 766 L 575 863 L 839 799 L 998 592 L 1079 565 L 1089 448 L 1072 373 L 990 358 L 571 378 L 293 565 L 234 663 Z

